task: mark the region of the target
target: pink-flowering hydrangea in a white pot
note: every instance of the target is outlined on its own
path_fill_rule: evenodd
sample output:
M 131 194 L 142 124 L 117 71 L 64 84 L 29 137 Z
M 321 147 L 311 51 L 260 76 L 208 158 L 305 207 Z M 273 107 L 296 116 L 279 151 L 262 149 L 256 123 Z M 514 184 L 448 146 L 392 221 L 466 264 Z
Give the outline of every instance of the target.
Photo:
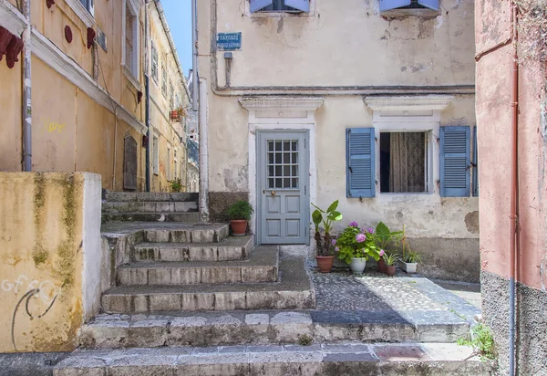
M 372 228 L 361 229 L 356 222 L 352 222 L 338 236 L 335 245 L 338 258 L 346 261 L 354 274 L 361 274 L 365 270 L 368 257 L 378 261 L 384 255 L 384 251 L 376 243 Z

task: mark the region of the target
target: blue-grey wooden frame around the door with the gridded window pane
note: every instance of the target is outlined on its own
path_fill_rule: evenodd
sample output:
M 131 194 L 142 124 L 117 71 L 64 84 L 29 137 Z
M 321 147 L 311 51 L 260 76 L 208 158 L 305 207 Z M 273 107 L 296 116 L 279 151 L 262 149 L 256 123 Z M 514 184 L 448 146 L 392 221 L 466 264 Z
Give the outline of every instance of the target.
M 255 138 L 258 140 L 260 138 L 260 135 L 263 134 L 263 133 L 278 133 L 280 135 L 285 135 L 285 134 L 291 134 L 291 133 L 298 133 L 298 134 L 303 134 L 304 135 L 304 162 L 302 163 L 302 165 L 299 167 L 299 168 L 302 168 L 304 172 L 306 171 L 309 171 L 310 170 L 310 164 L 311 164 L 311 155 L 310 155 L 310 131 L 309 130 L 303 130 L 303 129 L 290 129 L 290 130 L 286 130 L 286 129 L 275 129 L 275 130 L 264 130 L 264 129 L 261 129 L 261 130 L 257 130 L 255 131 Z M 280 138 L 283 138 L 283 137 L 280 137 Z M 255 158 L 256 158 L 256 161 L 260 161 L 260 158 L 259 158 L 259 151 L 260 151 L 260 142 L 255 142 L 256 144 L 256 150 L 254 151 L 255 152 Z M 302 152 L 302 150 L 300 150 L 299 152 Z M 254 207 L 255 207 L 255 213 L 256 213 L 256 232 L 254 233 L 256 235 L 256 242 L 258 245 L 261 245 L 263 244 L 263 232 L 262 232 L 262 226 L 263 226 L 263 205 L 262 205 L 262 195 L 260 193 L 261 191 L 261 182 L 260 182 L 260 178 L 261 178 L 261 174 L 258 172 L 258 165 L 255 166 L 256 167 L 256 178 L 254 179 L 254 184 L 255 184 L 255 192 L 256 192 L 256 200 L 254 202 Z M 304 179 L 303 179 L 303 183 L 304 183 L 304 186 L 302 186 L 304 188 L 304 213 L 303 213 L 303 222 L 304 222 L 304 245 L 309 245 L 310 244 L 310 173 L 308 173 L 307 175 L 304 173 Z M 300 188 L 300 191 L 302 192 L 302 188 Z M 286 245 L 291 245 L 290 243 L 289 244 L 286 244 Z M 300 245 L 300 244 L 298 244 Z

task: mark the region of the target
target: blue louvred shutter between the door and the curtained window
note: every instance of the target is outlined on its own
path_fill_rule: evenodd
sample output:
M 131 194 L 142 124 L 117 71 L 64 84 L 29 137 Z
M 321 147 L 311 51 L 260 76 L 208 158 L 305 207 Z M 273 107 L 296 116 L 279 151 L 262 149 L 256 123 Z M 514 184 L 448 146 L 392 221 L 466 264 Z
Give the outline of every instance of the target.
M 376 196 L 374 128 L 346 129 L 347 197 Z

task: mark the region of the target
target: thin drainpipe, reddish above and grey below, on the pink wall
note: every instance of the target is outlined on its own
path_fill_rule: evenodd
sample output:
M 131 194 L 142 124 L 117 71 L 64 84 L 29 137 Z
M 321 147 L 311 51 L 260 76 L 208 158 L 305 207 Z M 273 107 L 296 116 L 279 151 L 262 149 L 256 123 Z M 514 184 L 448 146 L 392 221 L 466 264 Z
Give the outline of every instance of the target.
M 511 107 L 512 107 L 512 141 L 511 141 L 511 245 L 510 245 L 510 279 L 509 279 L 509 374 L 515 374 L 515 274 L 518 267 L 517 260 L 517 234 L 519 226 L 519 207 L 517 203 L 518 177 L 519 177 L 519 63 L 518 63 L 518 31 L 517 31 L 517 5 L 512 5 L 512 46 L 513 63 L 511 72 Z

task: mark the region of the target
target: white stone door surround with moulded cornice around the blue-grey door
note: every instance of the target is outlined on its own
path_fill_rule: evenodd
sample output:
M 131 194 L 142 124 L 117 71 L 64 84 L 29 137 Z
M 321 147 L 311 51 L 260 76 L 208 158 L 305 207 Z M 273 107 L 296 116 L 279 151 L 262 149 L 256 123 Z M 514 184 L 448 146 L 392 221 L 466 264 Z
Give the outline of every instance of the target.
M 315 158 L 315 110 L 325 101 L 321 97 L 260 97 L 248 96 L 238 99 L 248 114 L 248 181 L 249 203 L 253 205 L 251 217 L 251 232 L 257 234 L 257 180 L 256 180 L 256 131 L 309 131 L 309 202 L 317 202 L 317 165 Z M 309 228 L 312 221 L 309 218 Z M 255 243 L 258 238 L 255 237 Z M 306 236 L 306 245 L 310 245 L 310 237 Z

